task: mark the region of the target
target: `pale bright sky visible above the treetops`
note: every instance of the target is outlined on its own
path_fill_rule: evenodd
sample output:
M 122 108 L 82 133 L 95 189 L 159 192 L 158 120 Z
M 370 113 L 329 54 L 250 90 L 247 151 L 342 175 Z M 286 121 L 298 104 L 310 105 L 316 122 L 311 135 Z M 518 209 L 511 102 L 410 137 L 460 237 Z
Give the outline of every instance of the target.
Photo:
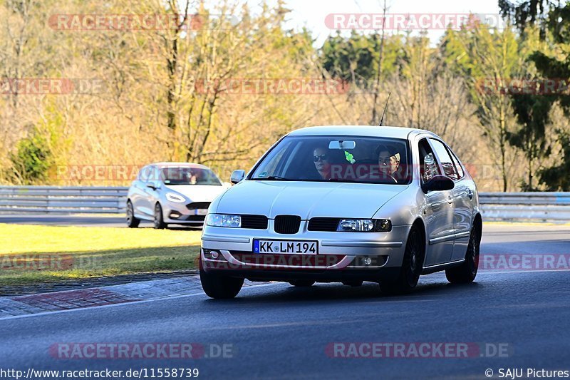
M 255 7 L 259 0 L 247 0 Z M 270 2 L 273 0 L 270 0 Z M 291 9 L 286 27 L 301 29 L 306 26 L 316 38 L 315 46 L 322 46 L 333 30 L 325 25 L 328 14 L 381 14 L 383 0 L 286 0 Z M 386 0 L 389 14 L 498 14 L 497 0 Z M 348 33 L 348 32 L 345 32 Z M 443 31 L 428 31 L 436 43 Z

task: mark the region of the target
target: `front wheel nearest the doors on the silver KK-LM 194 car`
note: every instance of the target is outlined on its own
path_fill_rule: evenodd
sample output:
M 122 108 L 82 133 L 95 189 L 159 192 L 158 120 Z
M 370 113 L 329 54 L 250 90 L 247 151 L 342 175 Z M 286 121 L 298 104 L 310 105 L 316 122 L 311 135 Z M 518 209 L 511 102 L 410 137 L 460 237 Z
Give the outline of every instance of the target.
M 404 259 L 398 279 L 393 282 L 380 282 L 380 289 L 386 294 L 405 294 L 418 284 L 425 257 L 425 242 L 418 227 L 413 226 L 405 243 Z

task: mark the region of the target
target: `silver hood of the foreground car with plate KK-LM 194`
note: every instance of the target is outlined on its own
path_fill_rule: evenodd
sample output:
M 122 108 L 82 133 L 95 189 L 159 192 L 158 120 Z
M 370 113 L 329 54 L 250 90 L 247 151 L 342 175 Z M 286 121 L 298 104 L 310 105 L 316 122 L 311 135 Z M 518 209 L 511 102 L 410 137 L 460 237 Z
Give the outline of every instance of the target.
M 229 189 L 215 212 L 223 214 L 373 217 L 407 185 L 246 180 Z

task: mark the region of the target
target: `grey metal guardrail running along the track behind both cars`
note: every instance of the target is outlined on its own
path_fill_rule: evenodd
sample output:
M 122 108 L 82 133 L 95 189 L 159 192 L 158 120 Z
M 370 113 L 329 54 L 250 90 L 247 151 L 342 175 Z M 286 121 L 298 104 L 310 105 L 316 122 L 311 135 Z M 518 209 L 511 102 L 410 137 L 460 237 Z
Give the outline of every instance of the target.
M 128 188 L 0 186 L 0 213 L 123 214 Z M 482 192 L 485 220 L 570 221 L 570 192 Z

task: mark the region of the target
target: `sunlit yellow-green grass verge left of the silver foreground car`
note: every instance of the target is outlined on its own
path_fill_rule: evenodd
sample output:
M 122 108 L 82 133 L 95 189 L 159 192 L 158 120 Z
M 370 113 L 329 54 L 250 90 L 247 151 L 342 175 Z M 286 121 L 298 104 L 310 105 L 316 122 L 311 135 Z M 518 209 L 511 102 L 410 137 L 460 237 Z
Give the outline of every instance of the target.
M 200 234 L 0 224 L 0 284 L 195 269 Z

